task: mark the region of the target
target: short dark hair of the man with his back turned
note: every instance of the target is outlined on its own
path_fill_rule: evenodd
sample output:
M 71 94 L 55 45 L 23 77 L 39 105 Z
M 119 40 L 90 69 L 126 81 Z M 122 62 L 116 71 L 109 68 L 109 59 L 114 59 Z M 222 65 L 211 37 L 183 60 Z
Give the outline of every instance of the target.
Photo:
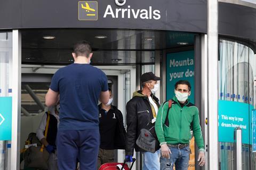
M 74 45 L 73 51 L 76 56 L 86 56 L 86 58 L 89 58 L 92 47 L 87 41 L 79 41 Z

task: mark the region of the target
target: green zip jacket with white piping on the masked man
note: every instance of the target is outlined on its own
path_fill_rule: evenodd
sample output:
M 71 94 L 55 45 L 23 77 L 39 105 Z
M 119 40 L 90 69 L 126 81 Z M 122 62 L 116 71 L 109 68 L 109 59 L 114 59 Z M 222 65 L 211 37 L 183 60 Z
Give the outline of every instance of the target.
M 189 100 L 181 107 L 177 98 L 172 99 L 168 119 L 165 121 L 169 102 L 165 102 L 158 109 L 155 131 L 160 143 L 167 144 L 189 143 L 191 138 L 190 128 L 193 130 L 195 141 L 199 150 L 204 150 L 204 140 L 199 124 L 198 109 Z

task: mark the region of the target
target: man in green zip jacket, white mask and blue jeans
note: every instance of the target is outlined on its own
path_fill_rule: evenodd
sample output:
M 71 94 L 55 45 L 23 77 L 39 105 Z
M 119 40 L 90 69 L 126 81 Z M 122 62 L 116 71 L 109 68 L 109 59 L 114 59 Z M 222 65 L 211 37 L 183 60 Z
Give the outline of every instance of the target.
M 188 169 L 190 129 L 193 130 L 199 149 L 199 165 L 203 166 L 204 141 L 198 109 L 188 99 L 191 94 L 190 83 L 187 80 L 179 80 L 174 90 L 175 96 L 171 108 L 169 109 L 169 102 L 165 102 L 159 108 L 156 118 L 155 130 L 161 145 L 160 169 L 163 170 L 168 166 L 172 169 L 174 164 L 176 170 Z

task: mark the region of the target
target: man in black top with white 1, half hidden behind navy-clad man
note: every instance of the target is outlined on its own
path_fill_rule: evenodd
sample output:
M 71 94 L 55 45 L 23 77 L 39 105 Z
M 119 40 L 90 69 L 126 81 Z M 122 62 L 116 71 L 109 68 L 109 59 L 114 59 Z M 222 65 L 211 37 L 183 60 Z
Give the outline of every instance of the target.
M 102 164 L 114 161 L 114 149 L 125 149 L 125 128 L 123 115 L 111 103 L 112 91 L 109 89 L 109 102 L 99 104 L 100 150 L 98 169 Z

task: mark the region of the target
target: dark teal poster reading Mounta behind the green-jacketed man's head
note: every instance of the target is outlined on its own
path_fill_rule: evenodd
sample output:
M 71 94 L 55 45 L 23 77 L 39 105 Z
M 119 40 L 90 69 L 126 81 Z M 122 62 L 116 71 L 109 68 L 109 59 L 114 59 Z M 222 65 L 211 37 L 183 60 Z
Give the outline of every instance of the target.
M 178 80 L 191 84 L 190 102 L 194 103 L 194 51 L 166 54 L 166 100 L 173 98 L 174 85 Z

